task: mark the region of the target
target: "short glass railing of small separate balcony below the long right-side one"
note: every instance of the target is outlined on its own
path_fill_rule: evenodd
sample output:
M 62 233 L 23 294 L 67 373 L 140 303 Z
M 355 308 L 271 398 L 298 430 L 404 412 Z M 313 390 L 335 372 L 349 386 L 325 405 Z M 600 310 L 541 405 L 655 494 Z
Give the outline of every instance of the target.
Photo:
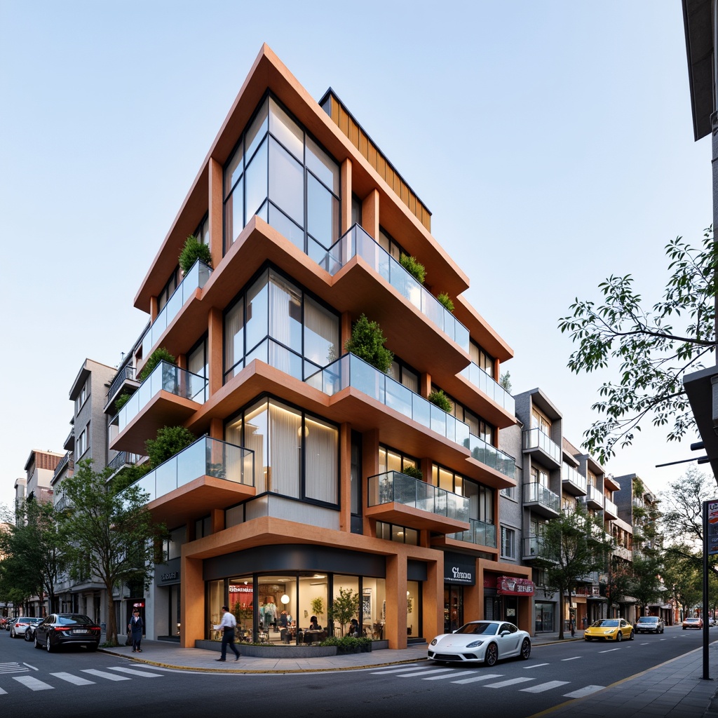
M 369 477 L 367 505 L 380 506 L 385 503 L 401 503 L 454 521 L 469 521 L 468 498 L 398 471 Z

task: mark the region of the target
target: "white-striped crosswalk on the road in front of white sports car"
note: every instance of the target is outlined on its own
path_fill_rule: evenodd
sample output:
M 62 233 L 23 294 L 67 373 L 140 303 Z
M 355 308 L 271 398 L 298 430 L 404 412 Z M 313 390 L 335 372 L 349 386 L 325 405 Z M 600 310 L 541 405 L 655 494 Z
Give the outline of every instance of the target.
M 538 663 L 536 666 L 526 668 L 538 668 L 548 666 L 549 663 Z M 572 687 L 570 681 L 543 681 L 533 676 L 518 676 L 509 678 L 504 673 L 485 673 L 483 669 L 465 670 L 465 668 L 436 668 L 433 664 L 426 666 L 404 666 L 402 668 L 386 668 L 382 671 L 369 671 L 373 676 L 394 675 L 397 678 L 408 678 L 419 681 L 449 681 L 449 683 L 460 686 L 480 684 L 482 688 L 495 690 L 516 688 L 522 693 L 544 693 L 546 691 L 567 690 Z M 461 677 L 460 677 L 461 676 Z M 503 679 L 503 680 L 499 680 Z M 531 683 L 531 686 L 524 686 Z M 583 698 L 597 691 L 602 691 L 606 686 L 580 686 L 569 693 L 562 694 L 565 698 Z

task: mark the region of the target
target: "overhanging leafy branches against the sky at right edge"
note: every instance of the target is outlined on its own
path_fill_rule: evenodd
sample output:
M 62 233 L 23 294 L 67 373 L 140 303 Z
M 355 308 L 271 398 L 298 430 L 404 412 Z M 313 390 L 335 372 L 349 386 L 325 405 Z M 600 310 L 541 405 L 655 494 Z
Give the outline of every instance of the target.
M 584 432 L 584 447 L 600 462 L 629 446 L 641 424 L 668 426 L 668 441 L 680 441 L 695 425 L 683 387 L 687 372 L 702 367 L 715 349 L 715 270 L 718 251 L 713 230 L 702 248 L 678 237 L 666 245 L 669 276 L 663 297 L 646 307 L 633 276 L 610 276 L 599 284 L 602 302 L 576 298 L 571 314 L 559 320 L 579 348 L 568 366 L 592 372 L 618 363 L 617 382 L 603 383 L 593 405 L 603 418 Z M 675 322 L 675 323 L 674 323 Z

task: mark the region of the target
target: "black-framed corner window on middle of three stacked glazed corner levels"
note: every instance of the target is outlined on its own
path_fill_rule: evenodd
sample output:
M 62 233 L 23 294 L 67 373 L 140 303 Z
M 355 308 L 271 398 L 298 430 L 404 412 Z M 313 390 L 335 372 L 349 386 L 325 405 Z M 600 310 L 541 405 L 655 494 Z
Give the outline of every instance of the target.
M 339 317 L 274 269 L 225 313 L 225 383 L 253 359 L 298 379 L 339 358 Z

